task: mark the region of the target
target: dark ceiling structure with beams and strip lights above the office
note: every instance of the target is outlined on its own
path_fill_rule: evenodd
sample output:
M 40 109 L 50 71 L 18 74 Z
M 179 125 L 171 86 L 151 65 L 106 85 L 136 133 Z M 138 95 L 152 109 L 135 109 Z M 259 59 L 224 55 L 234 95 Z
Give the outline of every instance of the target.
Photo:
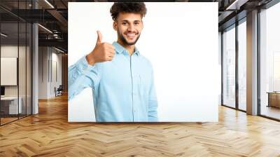
M 235 24 L 237 20 L 246 17 L 248 11 L 261 8 L 270 1 L 272 0 L 176 0 L 175 2 L 218 2 L 218 27 L 219 31 L 222 31 Z M 90 2 L 90 0 L 1 0 L 1 22 L 13 22 L 18 19 L 37 22 L 39 46 L 55 46 L 67 52 L 68 2 Z M 155 1 L 146 0 L 146 2 Z

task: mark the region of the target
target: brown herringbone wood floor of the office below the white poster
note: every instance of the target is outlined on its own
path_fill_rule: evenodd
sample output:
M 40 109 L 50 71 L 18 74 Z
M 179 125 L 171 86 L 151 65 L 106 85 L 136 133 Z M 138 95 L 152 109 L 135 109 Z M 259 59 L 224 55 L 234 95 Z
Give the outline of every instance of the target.
M 66 96 L 0 127 L 0 156 L 280 156 L 280 123 L 220 107 L 218 123 L 68 123 Z

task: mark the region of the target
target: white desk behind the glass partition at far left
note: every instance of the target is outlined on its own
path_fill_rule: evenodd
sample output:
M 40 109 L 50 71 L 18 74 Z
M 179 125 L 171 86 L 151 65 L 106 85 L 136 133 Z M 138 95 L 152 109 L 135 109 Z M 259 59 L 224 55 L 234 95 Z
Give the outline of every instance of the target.
M 1 97 L 1 106 L 7 105 L 7 103 L 8 114 L 22 114 L 22 97 Z

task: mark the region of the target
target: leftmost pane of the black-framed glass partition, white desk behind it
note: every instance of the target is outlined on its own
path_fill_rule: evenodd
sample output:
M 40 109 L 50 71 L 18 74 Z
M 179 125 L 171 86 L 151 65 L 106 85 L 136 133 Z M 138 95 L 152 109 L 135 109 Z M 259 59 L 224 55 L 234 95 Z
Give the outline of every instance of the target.
M 1 125 L 18 119 L 18 22 L 1 23 Z

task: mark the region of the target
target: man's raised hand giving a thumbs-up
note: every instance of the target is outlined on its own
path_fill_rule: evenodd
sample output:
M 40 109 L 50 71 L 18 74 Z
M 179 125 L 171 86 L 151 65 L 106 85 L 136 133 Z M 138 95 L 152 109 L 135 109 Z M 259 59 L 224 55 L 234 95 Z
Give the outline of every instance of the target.
M 102 34 L 97 31 L 97 42 L 95 48 L 86 56 L 88 64 L 97 62 L 106 62 L 113 60 L 115 55 L 115 47 L 111 43 L 102 43 Z

